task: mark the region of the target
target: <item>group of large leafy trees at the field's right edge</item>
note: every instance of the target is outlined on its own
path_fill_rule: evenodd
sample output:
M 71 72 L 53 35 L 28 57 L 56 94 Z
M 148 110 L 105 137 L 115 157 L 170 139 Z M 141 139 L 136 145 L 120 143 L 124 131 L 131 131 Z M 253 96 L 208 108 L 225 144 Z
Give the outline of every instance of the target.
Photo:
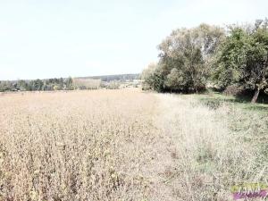
M 176 29 L 158 46 L 159 62 L 142 72 L 143 88 L 199 93 L 208 86 L 235 93 L 268 92 L 268 20 Z

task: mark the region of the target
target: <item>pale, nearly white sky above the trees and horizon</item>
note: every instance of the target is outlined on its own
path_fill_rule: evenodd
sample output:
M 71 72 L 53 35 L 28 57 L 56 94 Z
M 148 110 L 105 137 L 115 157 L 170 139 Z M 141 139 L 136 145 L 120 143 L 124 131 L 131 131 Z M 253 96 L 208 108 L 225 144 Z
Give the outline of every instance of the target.
M 267 11 L 267 0 L 0 0 L 0 80 L 139 73 L 172 29 Z

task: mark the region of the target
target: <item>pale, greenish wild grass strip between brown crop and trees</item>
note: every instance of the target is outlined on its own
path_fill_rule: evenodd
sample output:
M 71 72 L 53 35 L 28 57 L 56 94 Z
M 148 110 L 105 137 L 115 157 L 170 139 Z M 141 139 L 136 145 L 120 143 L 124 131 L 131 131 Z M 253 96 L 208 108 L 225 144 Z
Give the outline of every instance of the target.
M 267 113 L 261 117 L 228 104 L 210 109 L 195 96 L 159 96 L 160 123 L 172 138 L 167 183 L 174 200 L 232 200 L 232 185 L 267 184 Z

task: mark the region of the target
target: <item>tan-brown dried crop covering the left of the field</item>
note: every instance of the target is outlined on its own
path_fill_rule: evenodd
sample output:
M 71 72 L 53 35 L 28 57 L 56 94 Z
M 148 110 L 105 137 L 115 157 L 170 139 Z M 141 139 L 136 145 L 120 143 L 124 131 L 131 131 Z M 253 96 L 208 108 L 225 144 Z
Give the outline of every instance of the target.
M 142 200 L 155 98 L 130 90 L 1 96 L 3 200 Z M 153 129 L 153 130 L 152 130 Z M 153 153 L 152 153 L 153 154 Z

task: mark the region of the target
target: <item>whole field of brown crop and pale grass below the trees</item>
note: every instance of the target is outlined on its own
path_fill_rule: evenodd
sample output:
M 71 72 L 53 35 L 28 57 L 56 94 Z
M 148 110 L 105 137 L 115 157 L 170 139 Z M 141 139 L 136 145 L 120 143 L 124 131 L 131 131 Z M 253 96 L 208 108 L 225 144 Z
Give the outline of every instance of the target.
M 232 185 L 268 179 L 264 105 L 138 88 L 0 105 L 3 201 L 232 200 Z

